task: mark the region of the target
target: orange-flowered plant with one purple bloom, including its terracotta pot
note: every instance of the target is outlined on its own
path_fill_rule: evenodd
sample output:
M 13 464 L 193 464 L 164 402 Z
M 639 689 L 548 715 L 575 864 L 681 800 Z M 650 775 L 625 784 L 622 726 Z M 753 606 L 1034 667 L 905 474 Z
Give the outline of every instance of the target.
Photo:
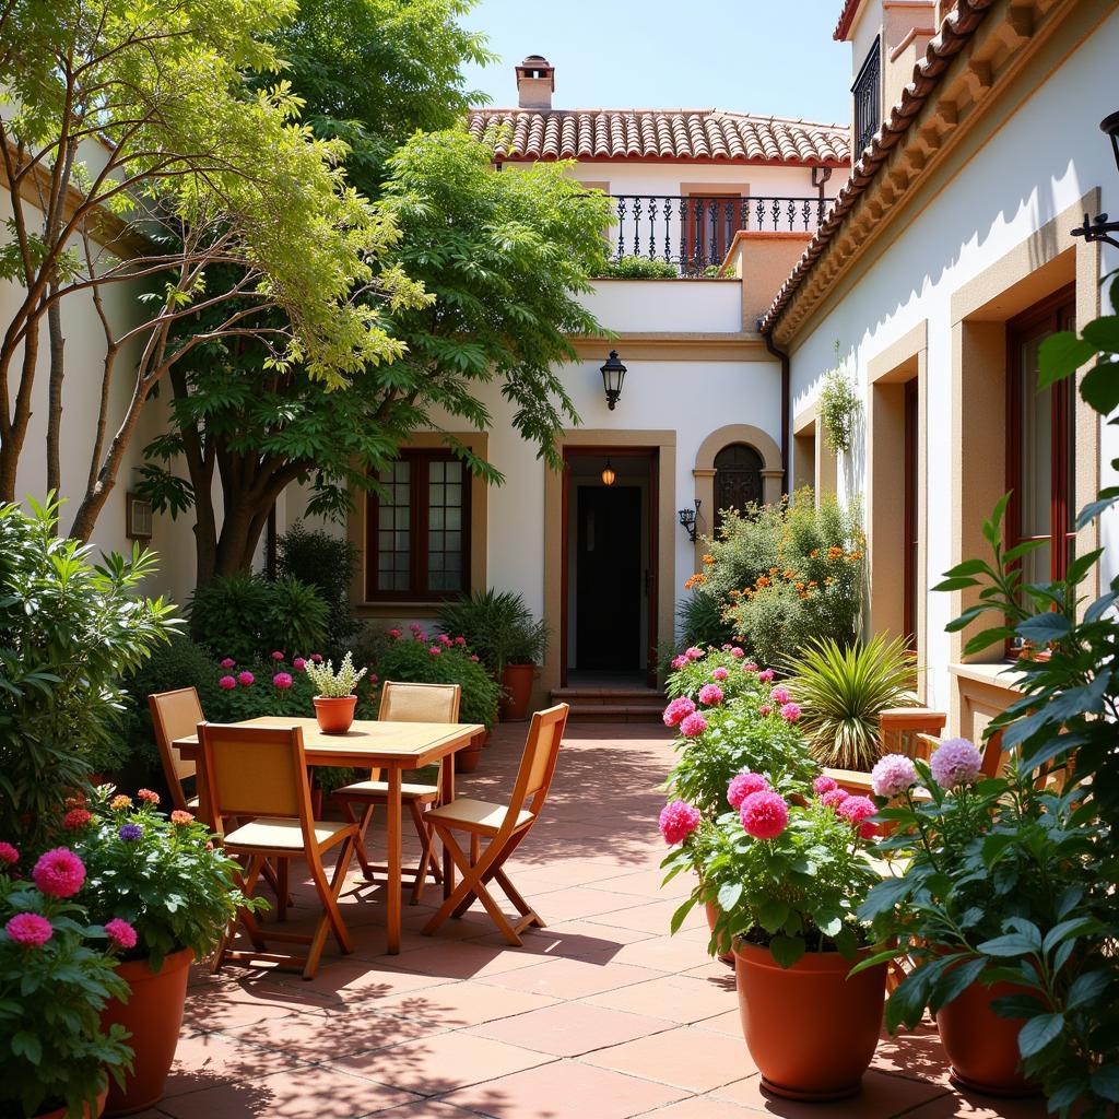
M 137 800 L 103 786 L 63 819 L 85 863 L 78 900 L 116 935 L 128 987 L 102 1013 L 105 1028 L 131 1034 L 135 1059 L 110 1088 L 107 1111 L 124 1115 L 162 1098 L 175 1059 L 190 963 L 211 952 L 239 906 L 261 909 L 236 886 L 237 864 L 187 811 L 157 811 L 159 796 Z M 114 933 L 113 930 L 116 930 Z

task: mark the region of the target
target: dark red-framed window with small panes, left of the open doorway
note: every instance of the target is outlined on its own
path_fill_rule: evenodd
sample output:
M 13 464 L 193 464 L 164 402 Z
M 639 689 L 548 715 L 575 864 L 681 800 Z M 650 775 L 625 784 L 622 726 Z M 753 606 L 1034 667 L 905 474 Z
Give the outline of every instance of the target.
M 439 600 L 470 585 L 470 474 L 445 451 L 405 451 L 370 492 L 366 598 Z

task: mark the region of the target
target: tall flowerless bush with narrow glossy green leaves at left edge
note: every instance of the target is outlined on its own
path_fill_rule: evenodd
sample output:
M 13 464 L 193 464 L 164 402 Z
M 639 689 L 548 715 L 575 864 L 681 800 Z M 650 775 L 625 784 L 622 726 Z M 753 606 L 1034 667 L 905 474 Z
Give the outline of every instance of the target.
M 58 502 L 0 506 L 0 835 L 41 847 L 57 806 L 121 754 L 120 679 L 173 632 L 138 592 L 156 556 L 93 560 Z

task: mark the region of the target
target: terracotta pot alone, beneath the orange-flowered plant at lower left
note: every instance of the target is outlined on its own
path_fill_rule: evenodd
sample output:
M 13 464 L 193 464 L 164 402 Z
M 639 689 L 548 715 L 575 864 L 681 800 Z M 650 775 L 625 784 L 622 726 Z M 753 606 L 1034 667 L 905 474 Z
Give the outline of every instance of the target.
M 189 948 L 172 952 L 159 971 L 147 960 L 121 963 L 116 971 L 132 994 L 128 1003 L 113 999 L 102 1012 L 103 1028 L 119 1023 L 132 1035 L 128 1044 L 135 1056 L 124 1089 L 114 1081 L 109 1085 L 106 1115 L 126 1116 L 143 1111 L 163 1098 L 163 1085 L 171 1071 L 179 1044 L 182 1007 L 187 1000 L 187 977 L 195 953 Z

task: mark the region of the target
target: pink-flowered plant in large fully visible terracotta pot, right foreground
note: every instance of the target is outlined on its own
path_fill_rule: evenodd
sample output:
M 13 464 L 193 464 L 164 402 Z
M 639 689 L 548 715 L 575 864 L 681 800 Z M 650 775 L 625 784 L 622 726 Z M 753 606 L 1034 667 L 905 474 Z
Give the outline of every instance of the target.
M 692 906 L 716 902 L 713 948 L 733 941 L 746 1045 L 763 1085 L 790 1099 L 855 1094 L 882 1026 L 886 963 L 852 974 L 873 955 L 856 910 L 877 881 L 875 806 L 836 791 L 820 779 L 796 797 L 746 792 L 715 821 L 703 876 L 673 916 L 676 931 Z

